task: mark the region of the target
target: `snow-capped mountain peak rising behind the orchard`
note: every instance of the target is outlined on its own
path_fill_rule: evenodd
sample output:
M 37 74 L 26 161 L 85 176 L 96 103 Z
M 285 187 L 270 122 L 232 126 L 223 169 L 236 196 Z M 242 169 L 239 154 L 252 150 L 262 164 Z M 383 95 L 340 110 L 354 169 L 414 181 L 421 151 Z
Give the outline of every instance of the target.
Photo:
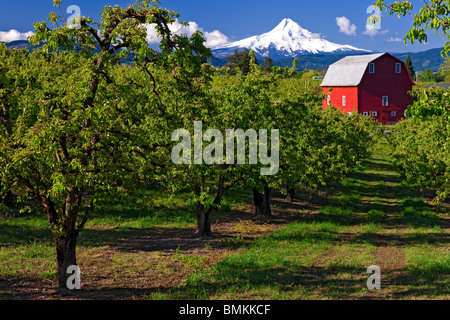
M 283 19 L 270 32 L 226 44 L 213 50 L 214 56 L 224 58 L 237 49 L 253 50 L 258 57 L 281 59 L 305 54 L 371 52 L 350 45 L 340 45 L 300 27 L 291 19 Z

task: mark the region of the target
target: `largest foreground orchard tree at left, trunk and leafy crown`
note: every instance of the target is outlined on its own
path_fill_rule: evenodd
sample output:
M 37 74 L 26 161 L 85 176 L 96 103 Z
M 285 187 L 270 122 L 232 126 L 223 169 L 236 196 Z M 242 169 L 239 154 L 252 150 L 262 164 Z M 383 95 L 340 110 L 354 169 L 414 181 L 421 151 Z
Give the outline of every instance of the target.
M 51 26 L 35 23 L 31 38 L 43 43 L 42 51 L 26 56 L 0 47 L 0 56 L 12 59 L 0 61 L 1 183 L 42 205 L 55 240 L 61 290 L 67 268 L 77 264 L 78 236 L 96 199 L 124 190 L 157 147 L 149 115 L 164 117 L 166 111 L 155 68 L 166 70 L 175 79 L 173 90 L 188 97 L 207 81 L 202 62 L 210 50 L 200 33 L 172 34 L 169 25 L 177 18 L 157 1 L 106 6 L 100 22 L 80 17 L 78 28 L 50 13 Z M 148 25 L 162 39 L 160 52 L 147 43 Z M 134 83 L 117 80 L 118 62 L 129 55 L 156 97 L 150 105 L 130 101 Z

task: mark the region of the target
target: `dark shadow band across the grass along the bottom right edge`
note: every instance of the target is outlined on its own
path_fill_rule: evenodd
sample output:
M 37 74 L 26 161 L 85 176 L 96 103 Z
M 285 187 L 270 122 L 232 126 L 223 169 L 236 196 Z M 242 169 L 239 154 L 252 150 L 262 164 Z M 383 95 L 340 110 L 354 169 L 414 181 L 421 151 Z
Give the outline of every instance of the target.
M 227 264 L 221 262 L 215 273 L 209 277 L 193 274 L 183 288 L 172 288 L 165 292 L 167 298 L 208 299 L 211 296 L 250 294 L 281 299 L 320 296 L 325 299 L 401 299 L 401 298 L 448 298 L 446 289 L 448 267 L 441 273 L 423 276 L 414 272 L 382 280 L 384 286 L 398 286 L 401 289 L 388 296 L 371 295 L 367 289 L 365 267 L 329 265 L 328 267 L 264 267 L 248 263 Z M 275 294 L 275 295 L 274 295 Z M 228 295 L 229 296 L 229 295 Z

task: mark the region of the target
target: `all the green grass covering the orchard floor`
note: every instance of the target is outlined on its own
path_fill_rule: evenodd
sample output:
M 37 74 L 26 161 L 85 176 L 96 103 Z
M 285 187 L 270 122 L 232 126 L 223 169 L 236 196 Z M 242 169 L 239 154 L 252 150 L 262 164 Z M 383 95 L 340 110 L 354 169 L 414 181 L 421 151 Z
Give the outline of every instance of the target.
M 218 217 L 249 199 L 241 190 L 228 194 Z M 106 199 L 80 235 L 80 261 L 105 268 L 121 286 L 136 274 L 166 276 L 171 265 L 188 270 L 185 280 L 145 299 L 450 299 L 448 215 L 403 181 L 384 141 L 314 214 L 299 209 L 297 222 L 249 244 L 239 235 L 205 242 L 209 250 L 233 250 L 212 266 L 207 256 L 181 249 L 159 254 L 123 246 L 146 231 L 194 227 L 193 208 L 189 192 L 170 197 L 152 188 L 128 202 Z M 255 228 L 263 226 L 235 226 Z M 114 245 L 120 249 L 94 258 Z M 371 265 L 381 268 L 382 290 L 366 287 Z M 0 275 L 55 279 L 55 270 L 44 216 L 0 217 Z

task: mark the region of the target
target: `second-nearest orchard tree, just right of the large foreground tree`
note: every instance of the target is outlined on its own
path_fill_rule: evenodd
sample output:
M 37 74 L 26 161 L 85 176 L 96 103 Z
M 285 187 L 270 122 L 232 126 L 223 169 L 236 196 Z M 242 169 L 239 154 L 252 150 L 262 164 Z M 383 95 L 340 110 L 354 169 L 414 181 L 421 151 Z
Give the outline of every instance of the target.
M 181 157 L 180 160 L 185 160 L 177 161 L 178 164 L 168 171 L 171 174 L 168 184 L 172 190 L 191 188 L 197 213 L 197 234 L 201 237 L 212 235 L 212 221 L 228 190 L 238 183 L 247 186 L 253 179 L 253 172 L 260 176 L 269 167 L 274 170 L 273 173 L 277 171 L 276 166 L 273 166 L 277 160 L 273 152 L 276 148 L 272 144 L 276 136 L 272 133 L 278 132 L 278 128 L 274 121 L 274 105 L 267 92 L 273 76 L 262 74 L 254 62 L 246 75 L 244 72 L 230 75 L 224 72 L 225 69 L 216 71 L 210 88 L 199 97 L 198 107 L 192 112 L 185 112 L 182 117 L 183 123 L 179 128 L 183 129 L 185 136 L 194 133 L 192 140 L 198 141 L 194 143 L 194 149 L 199 148 L 200 151 L 194 152 L 192 161 L 190 150 L 181 152 L 177 147 L 181 136 L 175 135 L 175 153 Z M 201 128 L 196 130 L 195 124 L 199 126 L 200 120 Z M 218 141 L 220 135 L 208 137 L 208 132 L 212 132 L 210 130 L 226 133 L 226 142 Z M 230 135 L 233 130 L 234 133 Z M 259 130 L 270 134 L 261 135 Z M 258 131 L 259 136 L 256 134 Z M 204 132 L 203 139 L 201 134 L 196 137 L 195 132 Z M 225 145 L 227 150 L 233 151 L 225 154 Z M 213 161 L 202 163 L 201 157 L 195 159 L 195 155 L 201 155 L 202 150 L 203 155 Z

